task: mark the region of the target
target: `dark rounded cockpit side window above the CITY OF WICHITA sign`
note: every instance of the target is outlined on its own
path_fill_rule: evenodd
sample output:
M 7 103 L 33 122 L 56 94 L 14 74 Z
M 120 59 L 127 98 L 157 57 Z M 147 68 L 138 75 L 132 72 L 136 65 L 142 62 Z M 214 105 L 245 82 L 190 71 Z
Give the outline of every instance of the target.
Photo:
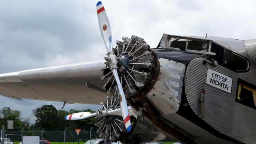
M 212 44 L 211 52 L 216 53 L 216 55 L 212 56 L 212 58 L 221 66 L 235 72 L 247 72 L 249 70 L 249 61 L 238 54 L 225 50 L 216 44 Z

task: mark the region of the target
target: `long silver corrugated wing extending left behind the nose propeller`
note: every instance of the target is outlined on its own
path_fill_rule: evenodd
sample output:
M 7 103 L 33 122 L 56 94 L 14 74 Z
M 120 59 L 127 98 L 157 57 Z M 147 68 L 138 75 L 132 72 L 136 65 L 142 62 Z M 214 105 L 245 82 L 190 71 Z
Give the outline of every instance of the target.
M 0 74 L 0 95 L 18 100 L 100 104 L 104 60 Z

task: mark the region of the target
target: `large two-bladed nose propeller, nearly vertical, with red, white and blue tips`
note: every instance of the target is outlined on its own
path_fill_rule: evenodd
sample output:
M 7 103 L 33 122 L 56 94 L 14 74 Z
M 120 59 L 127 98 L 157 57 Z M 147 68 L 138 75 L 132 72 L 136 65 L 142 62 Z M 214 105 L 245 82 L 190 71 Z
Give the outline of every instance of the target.
M 116 57 L 114 55 L 114 52 L 112 50 L 112 34 L 111 34 L 110 23 L 108 21 L 108 16 L 106 14 L 106 11 L 104 9 L 104 6 L 103 6 L 102 2 L 100 2 L 100 1 L 97 2 L 96 8 L 97 8 L 100 32 L 101 32 L 102 38 L 105 42 L 105 46 L 106 46 L 106 49 L 107 49 L 107 52 L 108 52 L 108 54 L 107 54 L 108 58 L 105 58 L 105 60 L 109 62 L 110 69 L 113 72 L 116 84 L 118 86 L 119 101 L 120 101 L 120 105 L 121 105 L 122 117 L 123 117 L 124 124 L 125 124 L 127 132 L 130 132 L 131 129 L 132 129 L 131 122 L 130 122 L 130 115 L 128 113 L 128 107 L 127 107 L 124 91 L 123 91 L 123 88 L 122 88 L 122 84 L 121 84 L 120 79 L 118 77 L 118 72 L 117 72 L 118 62 L 117 62 Z

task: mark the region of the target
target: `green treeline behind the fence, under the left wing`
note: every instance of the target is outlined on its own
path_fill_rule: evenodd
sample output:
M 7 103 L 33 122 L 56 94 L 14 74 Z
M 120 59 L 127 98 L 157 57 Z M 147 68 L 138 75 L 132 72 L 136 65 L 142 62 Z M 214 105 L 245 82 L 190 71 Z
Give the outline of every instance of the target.
M 22 117 L 21 111 L 12 110 L 9 107 L 0 109 L 0 126 L 5 125 L 7 120 L 14 120 L 15 129 L 26 130 L 57 130 L 60 128 L 92 128 L 98 122 L 95 118 L 83 120 L 65 120 L 65 116 L 76 112 L 95 112 L 93 110 L 57 110 L 53 105 L 43 105 L 33 110 L 31 116 Z

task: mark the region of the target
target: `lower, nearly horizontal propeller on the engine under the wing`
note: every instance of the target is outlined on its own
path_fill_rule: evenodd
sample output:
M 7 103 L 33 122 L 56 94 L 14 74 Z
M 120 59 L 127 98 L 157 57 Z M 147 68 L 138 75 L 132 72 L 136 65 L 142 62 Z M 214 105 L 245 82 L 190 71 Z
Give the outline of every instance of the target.
M 134 112 L 132 111 L 132 108 L 128 106 L 129 114 L 134 115 Z M 65 116 L 65 120 L 82 120 L 84 118 L 90 118 L 94 116 L 109 116 L 109 115 L 116 115 L 116 116 L 122 116 L 121 108 L 117 108 L 114 110 L 98 110 L 95 113 L 90 112 L 78 112 L 74 114 L 69 114 Z

